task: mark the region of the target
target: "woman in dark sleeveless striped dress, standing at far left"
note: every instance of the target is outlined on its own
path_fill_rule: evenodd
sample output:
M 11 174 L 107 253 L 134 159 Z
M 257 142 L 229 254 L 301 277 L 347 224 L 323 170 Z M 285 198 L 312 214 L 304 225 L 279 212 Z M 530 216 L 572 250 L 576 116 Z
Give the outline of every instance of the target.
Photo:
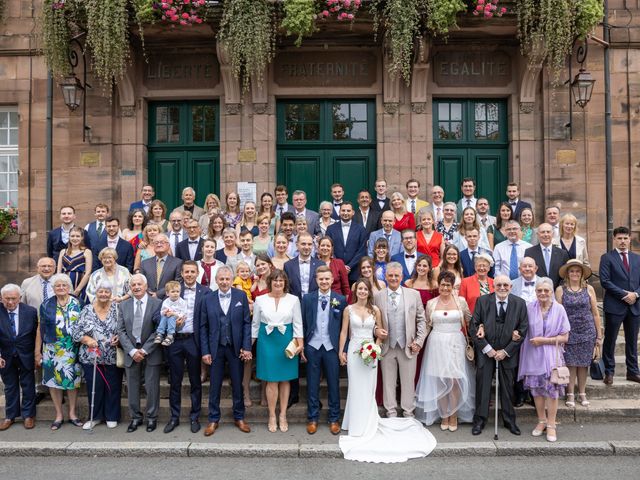
M 71 294 L 86 303 L 85 289 L 93 267 L 93 253 L 84 244 L 84 230 L 73 227 L 69 230 L 69 245 L 60 252 L 57 273 L 66 273 L 71 279 Z

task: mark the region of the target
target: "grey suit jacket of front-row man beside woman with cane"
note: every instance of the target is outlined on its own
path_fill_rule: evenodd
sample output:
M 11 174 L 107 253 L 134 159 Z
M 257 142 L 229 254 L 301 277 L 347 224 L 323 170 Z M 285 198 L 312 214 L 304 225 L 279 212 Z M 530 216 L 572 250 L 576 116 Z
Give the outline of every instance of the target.
M 118 338 L 120 345 L 124 350 L 124 366 L 131 367 L 133 358 L 129 352 L 136 348 L 136 339 L 133 336 L 133 315 L 135 312 L 135 297 L 128 298 L 118 305 Z M 160 307 L 162 301 L 147 295 L 147 308 L 142 318 L 142 333 L 140 334 L 140 343 L 142 348 L 147 352 L 146 361 L 148 365 L 162 364 L 162 350 L 158 348 L 158 343 L 154 343 L 156 338 L 156 328 L 160 323 Z

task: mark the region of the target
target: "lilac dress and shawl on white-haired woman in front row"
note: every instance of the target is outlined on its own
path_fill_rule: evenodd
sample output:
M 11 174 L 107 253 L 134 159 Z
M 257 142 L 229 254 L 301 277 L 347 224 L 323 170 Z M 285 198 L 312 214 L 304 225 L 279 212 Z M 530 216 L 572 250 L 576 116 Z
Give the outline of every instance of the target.
M 556 337 L 571 330 L 567 313 L 562 305 L 554 301 L 551 308 L 543 317 L 537 300 L 527 306 L 529 314 L 529 329 L 520 349 L 520 367 L 518 380 L 523 380 L 524 387 L 531 391 L 534 397 L 559 398 L 564 395 L 564 385 L 555 385 L 549 381 L 551 371 L 564 362 L 562 345 L 558 361 L 556 361 L 556 346 L 540 345 L 534 347 L 529 340 L 535 337 Z

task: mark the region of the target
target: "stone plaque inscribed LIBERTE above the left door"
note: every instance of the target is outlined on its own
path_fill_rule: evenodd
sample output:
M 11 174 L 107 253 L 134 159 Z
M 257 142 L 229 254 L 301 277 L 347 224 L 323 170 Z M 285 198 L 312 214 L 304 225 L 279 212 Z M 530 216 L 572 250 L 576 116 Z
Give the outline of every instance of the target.
M 143 68 L 144 84 L 151 89 L 214 88 L 220 82 L 214 54 L 150 55 Z

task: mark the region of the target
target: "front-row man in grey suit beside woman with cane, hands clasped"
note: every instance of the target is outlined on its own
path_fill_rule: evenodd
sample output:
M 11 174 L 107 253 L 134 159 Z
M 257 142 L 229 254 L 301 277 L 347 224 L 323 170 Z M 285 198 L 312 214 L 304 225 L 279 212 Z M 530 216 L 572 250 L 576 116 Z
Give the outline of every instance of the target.
M 160 321 L 162 302 L 147 294 L 147 279 L 137 273 L 129 281 L 132 297 L 118 305 L 118 338 L 125 353 L 127 395 L 131 423 L 127 432 L 135 432 L 142 425 L 140 383 L 144 371 L 147 395 L 147 432 L 157 426 L 160 406 L 160 366 L 162 351 L 154 343 Z

